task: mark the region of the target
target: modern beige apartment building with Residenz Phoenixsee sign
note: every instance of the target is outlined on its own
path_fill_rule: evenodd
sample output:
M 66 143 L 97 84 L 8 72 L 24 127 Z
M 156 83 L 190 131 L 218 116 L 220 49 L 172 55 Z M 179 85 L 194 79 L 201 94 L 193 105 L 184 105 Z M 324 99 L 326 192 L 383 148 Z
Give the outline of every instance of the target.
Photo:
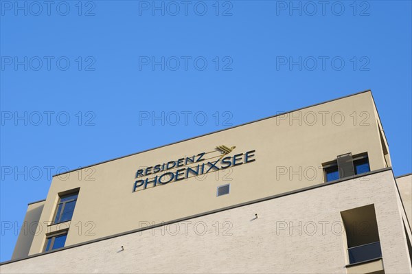
M 363 91 L 57 174 L 0 271 L 412 273 L 411 192 Z

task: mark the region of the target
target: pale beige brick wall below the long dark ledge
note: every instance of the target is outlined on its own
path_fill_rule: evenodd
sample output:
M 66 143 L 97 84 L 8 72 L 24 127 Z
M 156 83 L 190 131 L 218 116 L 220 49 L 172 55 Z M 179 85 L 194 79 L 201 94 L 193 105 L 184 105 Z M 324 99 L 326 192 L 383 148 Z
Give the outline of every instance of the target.
M 372 203 L 385 273 L 411 273 L 391 170 L 192 218 L 178 224 L 176 235 L 176 225 L 163 226 L 4 264 L 0 271 L 346 273 L 340 212 Z M 127 218 L 134 212 L 130 209 L 123 214 Z M 301 231 L 280 229 L 285 224 L 299 227 L 299 222 Z M 207 232 L 201 235 L 205 225 Z

